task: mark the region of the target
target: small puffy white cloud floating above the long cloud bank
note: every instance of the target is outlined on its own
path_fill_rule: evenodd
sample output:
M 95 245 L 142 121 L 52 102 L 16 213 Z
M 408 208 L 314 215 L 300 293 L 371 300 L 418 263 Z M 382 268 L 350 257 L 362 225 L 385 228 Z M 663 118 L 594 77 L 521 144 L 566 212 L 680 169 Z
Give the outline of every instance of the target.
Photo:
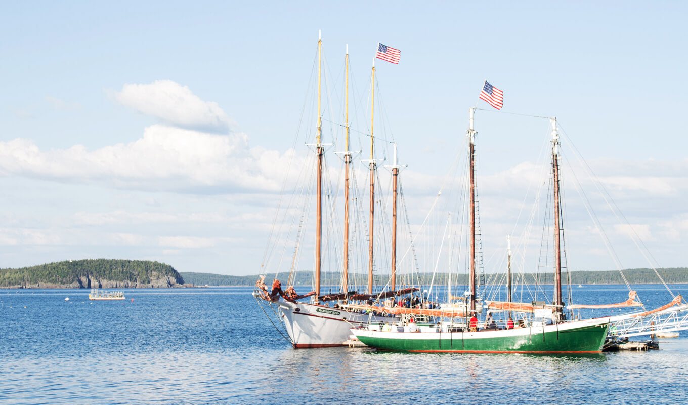
M 151 84 L 125 84 L 115 92 L 116 101 L 143 114 L 155 116 L 171 125 L 227 132 L 230 120 L 222 108 L 203 101 L 189 87 L 171 80 Z

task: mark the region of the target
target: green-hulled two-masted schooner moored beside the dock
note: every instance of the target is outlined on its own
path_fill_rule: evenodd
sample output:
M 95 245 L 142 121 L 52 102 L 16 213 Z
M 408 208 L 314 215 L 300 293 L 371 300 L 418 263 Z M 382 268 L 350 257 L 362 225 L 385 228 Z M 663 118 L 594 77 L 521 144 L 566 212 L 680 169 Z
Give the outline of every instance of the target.
M 561 210 L 559 198 L 559 133 L 557 120 L 552 123 L 552 180 L 554 194 L 554 235 L 555 235 L 555 278 L 554 300 L 552 304 L 486 302 L 487 307 L 502 311 L 521 311 L 537 313 L 537 318 L 526 324 L 504 324 L 502 328 L 491 324 L 489 318 L 478 327 L 476 309 L 475 274 L 475 129 L 470 110 L 469 121 L 469 178 L 470 178 L 470 276 L 469 291 L 466 291 L 464 304 L 445 305 L 438 309 L 392 309 L 406 315 L 406 324 L 369 324 L 352 329 L 358 340 L 376 349 L 413 352 L 464 352 L 464 353 L 594 353 L 602 350 L 610 324 L 610 318 L 589 320 L 567 320 L 561 295 Z M 510 289 L 510 287 L 509 287 Z M 510 295 L 509 295 L 510 297 Z M 373 307 L 385 311 L 381 307 Z M 450 322 L 422 323 L 413 322 L 413 317 L 451 318 Z M 469 320 L 470 317 L 470 320 Z M 488 315 L 489 317 L 489 315 Z M 463 319 L 464 322 L 453 322 Z M 541 322 L 533 322 L 536 319 Z

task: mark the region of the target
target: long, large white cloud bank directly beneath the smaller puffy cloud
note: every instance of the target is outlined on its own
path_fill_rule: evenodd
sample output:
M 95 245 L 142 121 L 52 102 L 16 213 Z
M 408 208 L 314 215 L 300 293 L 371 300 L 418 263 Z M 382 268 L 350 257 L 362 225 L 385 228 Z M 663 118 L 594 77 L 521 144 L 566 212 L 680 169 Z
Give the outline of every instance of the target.
M 277 191 L 292 156 L 293 151 L 250 149 L 245 134 L 151 125 L 136 141 L 92 152 L 83 145 L 43 151 L 22 138 L 0 142 L 0 174 L 105 181 L 122 189 L 149 191 Z

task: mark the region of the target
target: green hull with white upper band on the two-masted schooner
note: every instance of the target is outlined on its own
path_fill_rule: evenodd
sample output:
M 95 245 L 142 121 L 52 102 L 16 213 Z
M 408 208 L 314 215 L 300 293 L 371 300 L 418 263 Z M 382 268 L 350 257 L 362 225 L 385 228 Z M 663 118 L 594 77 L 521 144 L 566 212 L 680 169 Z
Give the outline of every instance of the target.
M 464 353 L 594 353 L 602 350 L 608 319 L 478 332 L 383 332 L 352 329 L 376 349 Z

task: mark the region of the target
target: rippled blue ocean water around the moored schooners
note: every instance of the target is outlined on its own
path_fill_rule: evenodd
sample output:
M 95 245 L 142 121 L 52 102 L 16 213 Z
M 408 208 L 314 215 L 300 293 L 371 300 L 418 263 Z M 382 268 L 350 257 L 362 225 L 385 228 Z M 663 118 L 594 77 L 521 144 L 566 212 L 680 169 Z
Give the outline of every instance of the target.
M 670 300 L 662 286 L 637 289 L 648 309 Z M 87 290 L 0 290 L 0 404 L 688 400 L 688 332 L 660 340 L 660 351 L 599 355 L 294 350 L 250 291 L 125 290 L 122 303 L 91 302 Z M 627 298 L 625 286 L 574 293 L 581 302 Z

